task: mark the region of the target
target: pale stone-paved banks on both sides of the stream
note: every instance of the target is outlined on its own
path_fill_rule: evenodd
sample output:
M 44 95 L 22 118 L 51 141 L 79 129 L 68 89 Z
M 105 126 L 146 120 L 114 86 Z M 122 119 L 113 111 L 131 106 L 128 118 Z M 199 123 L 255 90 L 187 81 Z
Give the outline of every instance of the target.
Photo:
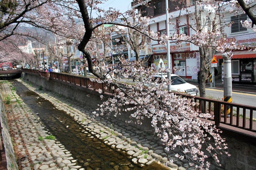
M 21 82 L 20 79 L 18 81 Z M 126 151 L 128 155 L 135 157 L 132 159 L 133 163 L 145 166 L 156 161 L 165 163 L 168 165 L 168 169 L 171 170 L 192 169 L 188 167 L 186 162 L 178 159 L 174 159 L 174 163 L 170 163 L 161 142 L 157 142 L 156 137 L 140 130 L 134 130 L 133 127 L 116 120 L 111 120 L 110 122 L 102 117 L 93 118 L 92 109 L 83 107 L 77 102 L 58 96 L 55 93 L 39 91 L 38 87 L 33 87 L 26 83 L 24 85 L 31 91 L 38 93 L 40 97 L 52 102 L 57 109 L 71 115 L 86 130 L 102 139 L 105 144 L 112 148 Z M 21 101 L 10 85 L 3 84 L 2 86 L 2 93 L 5 96 L 11 95 L 12 102 L 16 103 L 15 105 L 9 105 L 10 108 L 6 110 L 8 110 L 9 126 L 12 129 L 13 140 L 16 144 L 14 147 L 21 159 L 21 169 L 84 170 L 84 168 L 76 166 L 76 159 L 71 156 L 70 152 L 61 143 L 45 139 L 50 134 L 44 129 L 36 114 L 31 112 Z M 108 137 L 106 138 L 106 136 Z M 43 137 L 43 140 L 39 140 L 39 137 Z M 145 154 L 141 154 L 139 148 L 148 151 L 146 157 Z

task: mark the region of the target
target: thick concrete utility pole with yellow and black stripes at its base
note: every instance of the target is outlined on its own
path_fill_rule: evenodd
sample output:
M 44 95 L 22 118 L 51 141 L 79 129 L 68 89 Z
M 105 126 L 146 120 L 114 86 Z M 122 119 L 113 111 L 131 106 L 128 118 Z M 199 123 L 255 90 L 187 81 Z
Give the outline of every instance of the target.
M 231 74 L 231 58 L 226 56 L 225 54 L 222 55 L 223 62 L 224 62 L 224 101 L 225 102 L 232 102 L 232 74 Z M 227 117 L 230 117 L 230 106 L 226 106 L 224 108 L 224 114 Z

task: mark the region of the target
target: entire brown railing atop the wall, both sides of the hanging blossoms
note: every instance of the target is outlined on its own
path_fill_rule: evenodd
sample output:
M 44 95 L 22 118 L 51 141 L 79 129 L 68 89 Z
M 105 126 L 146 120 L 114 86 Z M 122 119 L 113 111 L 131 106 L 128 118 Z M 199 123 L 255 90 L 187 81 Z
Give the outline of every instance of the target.
M 46 79 L 57 79 L 59 81 L 69 82 L 85 88 L 91 88 L 93 90 L 102 89 L 104 93 L 115 93 L 106 83 L 91 82 L 88 77 L 81 77 L 76 75 L 62 74 L 57 72 L 43 72 L 40 70 L 23 69 L 23 72 L 38 75 Z M 185 95 L 176 93 L 183 97 L 192 98 L 199 105 L 194 106 L 194 110 L 201 113 L 212 114 L 211 121 L 214 121 L 216 126 L 226 125 L 239 129 L 248 130 L 250 132 L 256 132 L 256 107 L 240 105 L 230 102 L 224 102 L 214 99 L 201 98 L 197 96 Z M 226 109 L 230 108 L 230 115 L 226 114 Z

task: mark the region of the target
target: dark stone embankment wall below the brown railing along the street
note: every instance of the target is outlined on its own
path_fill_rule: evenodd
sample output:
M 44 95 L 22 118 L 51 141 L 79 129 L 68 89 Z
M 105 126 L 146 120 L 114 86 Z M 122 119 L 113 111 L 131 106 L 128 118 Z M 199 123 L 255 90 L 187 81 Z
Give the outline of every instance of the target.
M 43 77 L 26 73 L 22 74 L 22 78 L 33 84 L 42 86 L 49 91 L 54 91 L 60 95 L 76 100 L 81 104 L 90 105 L 95 109 L 102 103 L 100 100 L 100 94 L 97 91 L 76 86 L 69 82 L 59 82 L 55 79 L 47 81 Z M 129 119 L 129 115 L 130 114 L 128 113 L 122 114 L 118 119 L 124 122 Z M 140 130 L 152 130 L 149 119 L 145 119 L 142 126 L 137 124 L 133 126 Z M 233 133 L 225 130 L 221 136 L 226 138 L 226 143 L 229 148 L 228 152 L 231 154 L 230 157 L 224 155 L 220 156 L 222 168 L 225 170 L 256 170 L 256 142 L 254 138 L 251 138 L 251 140 L 248 140 L 247 138 L 247 140 L 245 140 L 243 135 L 234 135 Z M 221 168 L 216 167 L 216 169 Z

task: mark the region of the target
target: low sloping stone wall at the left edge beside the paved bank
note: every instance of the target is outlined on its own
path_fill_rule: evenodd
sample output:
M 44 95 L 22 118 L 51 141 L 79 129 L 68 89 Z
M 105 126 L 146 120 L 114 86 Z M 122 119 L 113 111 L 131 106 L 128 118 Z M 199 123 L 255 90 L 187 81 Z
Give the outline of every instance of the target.
M 7 115 L 5 113 L 5 106 L 3 101 L 4 100 L 3 100 L 2 94 L 0 93 L 0 121 L 1 121 L 1 128 L 2 128 L 2 139 L 4 143 L 3 149 L 5 149 L 5 156 L 7 161 L 7 169 L 18 170 L 14 149 L 12 147 L 11 136 L 9 134 L 9 126 L 7 122 Z M 0 138 L 0 142 L 2 142 L 1 138 Z

